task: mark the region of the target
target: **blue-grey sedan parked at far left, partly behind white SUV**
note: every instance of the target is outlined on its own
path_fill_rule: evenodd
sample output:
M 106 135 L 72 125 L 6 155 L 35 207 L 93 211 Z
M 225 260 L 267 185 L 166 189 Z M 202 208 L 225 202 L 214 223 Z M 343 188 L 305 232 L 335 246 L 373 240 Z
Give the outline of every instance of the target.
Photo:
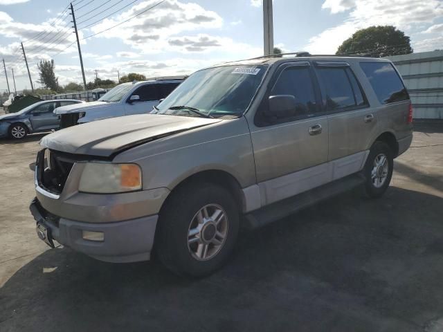
M 51 131 L 60 127 L 60 118 L 53 113 L 57 107 L 82 104 L 81 100 L 44 100 L 17 113 L 0 116 L 0 137 L 25 138 L 28 133 Z

